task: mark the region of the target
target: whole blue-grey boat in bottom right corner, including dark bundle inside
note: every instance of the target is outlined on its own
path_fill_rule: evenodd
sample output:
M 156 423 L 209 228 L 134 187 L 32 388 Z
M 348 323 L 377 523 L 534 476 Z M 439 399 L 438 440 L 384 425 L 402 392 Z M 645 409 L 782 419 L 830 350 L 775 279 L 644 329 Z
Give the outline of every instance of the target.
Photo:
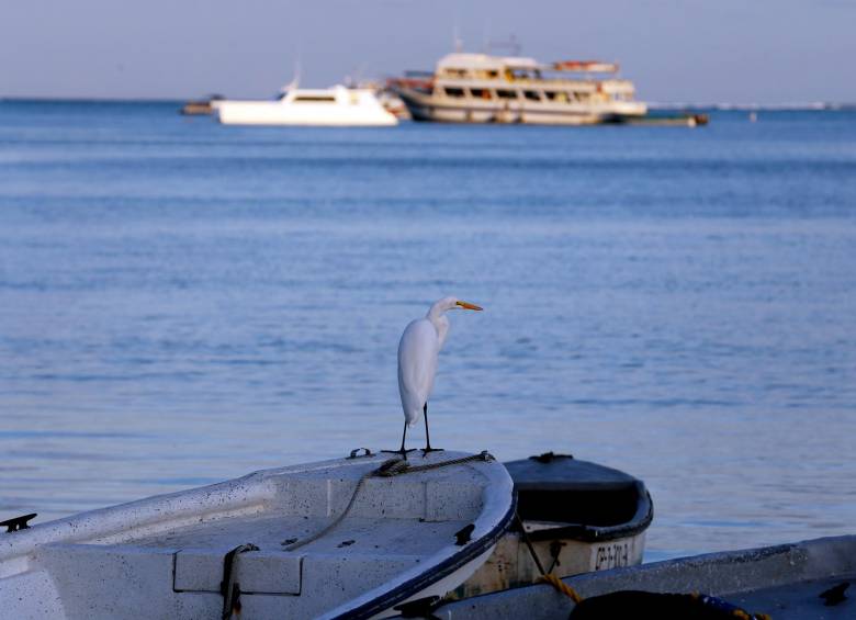
M 856 618 L 856 536 L 822 538 L 709 553 L 562 579 L 582 598 L 552 585 L 509 589 L 442 606 L 424 606 L 452 620 L 570 618 L 734 618 L 819 620 Z

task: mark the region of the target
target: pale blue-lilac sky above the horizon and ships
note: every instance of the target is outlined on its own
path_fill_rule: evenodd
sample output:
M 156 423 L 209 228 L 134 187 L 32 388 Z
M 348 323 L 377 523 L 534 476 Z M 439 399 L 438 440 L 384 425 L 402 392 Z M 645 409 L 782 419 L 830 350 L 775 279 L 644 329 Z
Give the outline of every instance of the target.
M 455 23 L 649 101 L 856 101 L 856 0 L 0 0 L 0 97 L 267 97 L 299 55 L 304 86 L 430 69 Z

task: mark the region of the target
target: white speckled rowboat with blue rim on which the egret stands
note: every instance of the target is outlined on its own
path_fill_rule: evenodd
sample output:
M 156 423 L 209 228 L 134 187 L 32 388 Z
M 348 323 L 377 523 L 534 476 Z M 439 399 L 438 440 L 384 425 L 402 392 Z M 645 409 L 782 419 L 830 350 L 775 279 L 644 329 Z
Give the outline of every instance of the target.
M 511 478 L 486 453 L 352 456 L 25 529 L 12 520 L 0 616 L 383 617 L 460 585 L 513 519 Z

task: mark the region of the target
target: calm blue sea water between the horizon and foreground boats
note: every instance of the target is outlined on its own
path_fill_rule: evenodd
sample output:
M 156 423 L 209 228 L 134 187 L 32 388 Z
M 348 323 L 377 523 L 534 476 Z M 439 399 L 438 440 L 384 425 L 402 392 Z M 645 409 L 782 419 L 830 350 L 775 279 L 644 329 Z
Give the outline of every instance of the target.
M 856 530 L 856 114 L 230 128 L 0 103 L 0 518 L 436 444 L 651 488 L 651 557 Z M 423 441 L 414 432 L 414 444 Z

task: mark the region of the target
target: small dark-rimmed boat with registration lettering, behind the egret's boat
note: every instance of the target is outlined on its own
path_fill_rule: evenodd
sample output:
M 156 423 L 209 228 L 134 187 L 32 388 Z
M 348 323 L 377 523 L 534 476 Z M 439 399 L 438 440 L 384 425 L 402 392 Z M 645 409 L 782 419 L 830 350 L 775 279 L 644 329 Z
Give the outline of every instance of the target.
M 568 577 L 642 563 L 645 531 L 654 518 L 642 481 L 553 452 L 505 466 L 515 483 L 520 521 L 455 597 L 528 586 L 541 571 Z

